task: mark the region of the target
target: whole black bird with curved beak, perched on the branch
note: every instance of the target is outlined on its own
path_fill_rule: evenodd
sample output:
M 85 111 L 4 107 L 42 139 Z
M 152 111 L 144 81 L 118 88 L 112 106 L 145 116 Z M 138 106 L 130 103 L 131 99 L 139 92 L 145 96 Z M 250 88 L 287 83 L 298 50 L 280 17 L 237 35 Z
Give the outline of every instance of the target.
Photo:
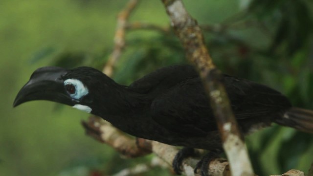
M 223 75 L 223 83 L 244 134 L 272 122 L 313 132 L 313 111 L 291 107 L 280 92 L 228 75 Z M 190 155 L 192 148 L 216 154 L 223 150 L 210 102 L 192 66 L 164 67 L 130 86 L 90 67 L 42 67 L 31 75 L 13 106 L 31 100 L 63 103 L 100 116 L 136 137 L 184 146 L 173 163 L 178 174 L 182 157 Z M 207 169 L 203 163 L 198 167 Z

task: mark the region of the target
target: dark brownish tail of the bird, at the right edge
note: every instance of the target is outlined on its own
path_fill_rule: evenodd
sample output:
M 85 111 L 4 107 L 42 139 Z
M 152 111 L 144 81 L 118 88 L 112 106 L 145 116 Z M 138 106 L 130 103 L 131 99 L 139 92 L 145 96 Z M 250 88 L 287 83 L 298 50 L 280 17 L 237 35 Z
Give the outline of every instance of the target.
M 276 123 L 289 126 L 303 132 L 313 133 L 313 110 L 291 108 Z

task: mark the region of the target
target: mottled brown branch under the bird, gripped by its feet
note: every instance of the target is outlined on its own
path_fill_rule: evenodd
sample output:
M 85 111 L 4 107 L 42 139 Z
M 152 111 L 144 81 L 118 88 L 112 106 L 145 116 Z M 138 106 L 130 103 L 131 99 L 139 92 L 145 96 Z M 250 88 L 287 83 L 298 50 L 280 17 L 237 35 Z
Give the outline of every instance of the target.
M 174 157 L 179 151 L 174 146 L 156 141 L 141 138 L 135 140 L 100 117 L 90 116 L 88 122 L 83 121 L 82 124 L 88 135 L 100 142 L 105 142 L 127 157 L 139 157 L 153 152 L 171 167 Z M 183 161 L 183 169 L 187 176 L 194 176 L 193 171 L 198 162 L 199 159 L 194 158 L 187 158 Z M 218 158 L 210 163 L 209 173 L 211 173 L 211 176 L 221 176 L 223 173 L 228 172 L 227 165 L 228 162 L 225 159 Z

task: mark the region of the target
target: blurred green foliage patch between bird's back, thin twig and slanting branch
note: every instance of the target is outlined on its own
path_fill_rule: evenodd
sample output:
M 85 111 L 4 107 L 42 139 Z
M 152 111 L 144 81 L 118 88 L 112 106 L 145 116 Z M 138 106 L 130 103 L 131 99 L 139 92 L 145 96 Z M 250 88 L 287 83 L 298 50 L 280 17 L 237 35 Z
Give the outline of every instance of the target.
M 160 66 L 186 62 L 182 47 L 174 35 L 134 38 L 127 45 L 114 74 L 114 80 L 122 84 L 129 85 Z

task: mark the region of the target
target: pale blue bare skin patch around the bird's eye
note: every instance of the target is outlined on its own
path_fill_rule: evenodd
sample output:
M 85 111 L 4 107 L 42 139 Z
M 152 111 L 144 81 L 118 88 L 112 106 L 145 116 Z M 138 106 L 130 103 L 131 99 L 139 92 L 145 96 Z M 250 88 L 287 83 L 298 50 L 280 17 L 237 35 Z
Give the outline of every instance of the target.
M 75 100 L 81 99 L 83 96 L 87 95 L 89 93 L 89 90 L 85 85 L 77 80 L 77 79 L 67 79 L 64 81 L 64 85 L 73 85 L 76 89 L 76 92 L 73 94 L 69 94 L 70 97 L 72 97 Z

